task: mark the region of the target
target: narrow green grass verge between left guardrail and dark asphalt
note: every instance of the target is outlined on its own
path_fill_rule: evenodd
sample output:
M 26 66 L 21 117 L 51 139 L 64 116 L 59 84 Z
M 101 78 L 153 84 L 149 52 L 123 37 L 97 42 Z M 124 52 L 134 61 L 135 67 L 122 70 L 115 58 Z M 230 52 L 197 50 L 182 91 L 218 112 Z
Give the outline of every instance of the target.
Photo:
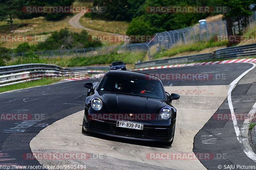
M 58 79 L 44 79 L 44 80 L 34 80 L 34 81 L 27 81 L 27 82 L 12 84 L 12 85 L 1 87 L 0 88 L 0 93 L 5 92 L 5 91 L 16 90 L 16 89 L 24 89 L 24 88 L 28 88 L 28 87 L 35 87 L 35 86 L 42 86 L 42 85 L 52 84 L 52 83 L 57 82 L 57 81 L 60 81 L 60 80 L 58 80 Z

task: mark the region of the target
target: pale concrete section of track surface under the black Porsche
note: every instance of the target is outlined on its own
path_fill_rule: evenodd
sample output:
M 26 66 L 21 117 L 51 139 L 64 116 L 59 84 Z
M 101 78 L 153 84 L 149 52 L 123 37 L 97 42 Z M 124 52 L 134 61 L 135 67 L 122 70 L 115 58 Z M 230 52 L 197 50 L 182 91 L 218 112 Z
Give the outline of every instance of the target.
M 177 109 L 175 137 L 172 146 L 96 134 L 82 134 L 84 110 L 65 117 L 44 128 L 30 142 L 36 153 L 91 153 L 102 154 L 102 159 L 50 160 L 37 159 L 41 165 L 84 164 L 89 169 L 206 169 L 198 159 L 151 159 L 149 153 L 194 154 L 193 143 L 197 132 L 212 117 L 228 95 L 229 85 L 166 86 L 168 93 L 180 94 L 173 101 Z

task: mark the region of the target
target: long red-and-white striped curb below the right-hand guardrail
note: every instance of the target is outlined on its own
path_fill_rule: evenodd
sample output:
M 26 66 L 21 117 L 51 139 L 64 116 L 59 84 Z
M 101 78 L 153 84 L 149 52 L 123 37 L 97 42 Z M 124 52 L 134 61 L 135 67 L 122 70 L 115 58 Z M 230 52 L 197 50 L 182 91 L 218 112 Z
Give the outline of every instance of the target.
M 256 62 L 256 59 L 254 58 L 232 59 L 232 60 L 208 61 L 208 62 L 189 63 L 189 64 L 176 64 L 176 65 L 159 66 L 159 67 L 137 68 L 137 69 L 132 69 L 130 71 L 153 70 L 153 69 L 173 68 L 173 67 L 202 66 L 202 65 L 213 65 L 213 64 L 247 63 L 247 62 Z

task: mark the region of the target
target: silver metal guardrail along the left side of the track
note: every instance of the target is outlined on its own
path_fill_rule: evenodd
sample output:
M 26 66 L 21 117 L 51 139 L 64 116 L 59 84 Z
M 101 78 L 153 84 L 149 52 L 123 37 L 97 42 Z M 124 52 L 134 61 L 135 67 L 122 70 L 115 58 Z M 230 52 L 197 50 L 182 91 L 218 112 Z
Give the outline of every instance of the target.
M 106 66 L 90 66 L 90 69 L 109 69 Z M 20 64 L 0 67 L 0 87 L 42 78 L 74 78 L 88 74 L 88 67 L 62 68 L 50 64 Z M 98 73 L 99 71 L 96 71 Z M 93 73 L 91 71 L 90 73 Z

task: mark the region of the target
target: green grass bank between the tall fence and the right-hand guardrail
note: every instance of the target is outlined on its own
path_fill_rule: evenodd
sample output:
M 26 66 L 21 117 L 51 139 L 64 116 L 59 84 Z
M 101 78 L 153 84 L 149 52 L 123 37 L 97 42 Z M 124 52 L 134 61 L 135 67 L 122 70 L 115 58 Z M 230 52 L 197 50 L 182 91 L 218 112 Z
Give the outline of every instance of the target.
M 173 48 L 163 50 L 161 53 L 157 53 L 153 59 L 160 59 L 164 57 L 171 57 L 174 55 L 177 55 L 179 53 L 184 53 L 184 52 L 199 52 L 202 51 L 206 48 L 210 47 L 216 47 L 216 46 L 225 46 L 227 45 L 227 42 L 215 42 L 213 40 L 207 41 L 207 42 L 198 42 L 194 44 L 189 44 L 189 45 L 183 45 L 183 46 L 175 46 Z

